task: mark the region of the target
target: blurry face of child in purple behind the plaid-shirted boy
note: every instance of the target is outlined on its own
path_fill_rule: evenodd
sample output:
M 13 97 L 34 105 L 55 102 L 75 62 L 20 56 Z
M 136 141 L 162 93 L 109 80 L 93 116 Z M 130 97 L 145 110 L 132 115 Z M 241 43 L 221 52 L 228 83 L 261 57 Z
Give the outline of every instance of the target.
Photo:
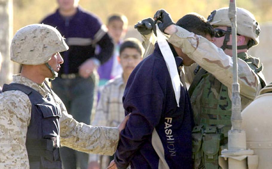
M 109 30 L 109 35 L 113 38 L 115 43 L 118 43 L 126 34 L 126 28 L 123 21 L 113 20 L 107 27 Z

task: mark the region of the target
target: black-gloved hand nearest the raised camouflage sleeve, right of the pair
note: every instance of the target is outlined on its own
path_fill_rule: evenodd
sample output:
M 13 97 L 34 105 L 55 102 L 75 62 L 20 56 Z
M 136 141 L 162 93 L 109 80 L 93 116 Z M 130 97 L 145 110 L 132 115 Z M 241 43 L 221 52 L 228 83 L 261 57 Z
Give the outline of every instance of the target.
M 166 29 L 168 26 L 175 24 L 171 18 L 171 15 L 164 9 L 160 9 L 155 13 L 154 20 L 155 23 L 158 24 L 161 32 L 164 32 L 164 29 Z

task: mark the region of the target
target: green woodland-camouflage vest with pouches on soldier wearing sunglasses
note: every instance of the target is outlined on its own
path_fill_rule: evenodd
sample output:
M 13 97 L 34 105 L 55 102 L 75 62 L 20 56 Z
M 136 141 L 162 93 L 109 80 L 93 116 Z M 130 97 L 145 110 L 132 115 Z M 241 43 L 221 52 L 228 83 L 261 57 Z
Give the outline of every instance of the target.
M 259 60 L 239 53 L 238 57 L 258 75 L 262 71 Z M 223 76 L 223 75 L 222 75 Z M 258 75 L 259 76 L 259 75 Z M 265 81 L 259 76 L 262 87 Z M 231 100 L 228 88 L 211 73 L 200 69 L 189 88 L 194 120 L 197 126 L 192 131 L 194 167 L 218 168 L 219 149 L 227 148 L 227 132 L 231 129 Z M 242 104 L 252 100 L 241 97 Z M 220 147 L 221 146 L 221 147 Z

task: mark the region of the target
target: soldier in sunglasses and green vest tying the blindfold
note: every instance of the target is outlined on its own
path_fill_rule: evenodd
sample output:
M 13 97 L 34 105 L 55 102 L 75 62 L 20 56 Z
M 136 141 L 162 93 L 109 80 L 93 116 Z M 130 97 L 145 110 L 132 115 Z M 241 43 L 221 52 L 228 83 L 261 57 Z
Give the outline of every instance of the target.
M 247 55 L 247 50 L 259 43 L 260 27 L 249 11 L 237 8 L 236 14 L 241 109 L 245 109 L 265 86 L 265 79 L 259 59 Z M 214 10 L 208 17 L 215 31 L 210 41 L 175 25 L 165 10 L 158 10 L 154 19 L 161 31 L 171 35 L 168 42 L 196 62 L 185 67 L 196 124 L 192 131 L 194 168 L 217 169 L 218 155 L 227 148 L 227 132 L 231 128 L 233 61 L 228 7 Z M 140 26 L 151 30 L 144 22 Z

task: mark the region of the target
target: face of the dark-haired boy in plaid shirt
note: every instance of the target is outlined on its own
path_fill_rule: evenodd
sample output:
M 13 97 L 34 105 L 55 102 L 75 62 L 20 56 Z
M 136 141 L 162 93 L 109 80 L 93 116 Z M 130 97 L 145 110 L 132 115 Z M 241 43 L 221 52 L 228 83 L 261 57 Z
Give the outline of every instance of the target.
M 142 57 L 135 48 L 125 48 L 120 54 L 120 64 L 124 73 L 131 73 Z

